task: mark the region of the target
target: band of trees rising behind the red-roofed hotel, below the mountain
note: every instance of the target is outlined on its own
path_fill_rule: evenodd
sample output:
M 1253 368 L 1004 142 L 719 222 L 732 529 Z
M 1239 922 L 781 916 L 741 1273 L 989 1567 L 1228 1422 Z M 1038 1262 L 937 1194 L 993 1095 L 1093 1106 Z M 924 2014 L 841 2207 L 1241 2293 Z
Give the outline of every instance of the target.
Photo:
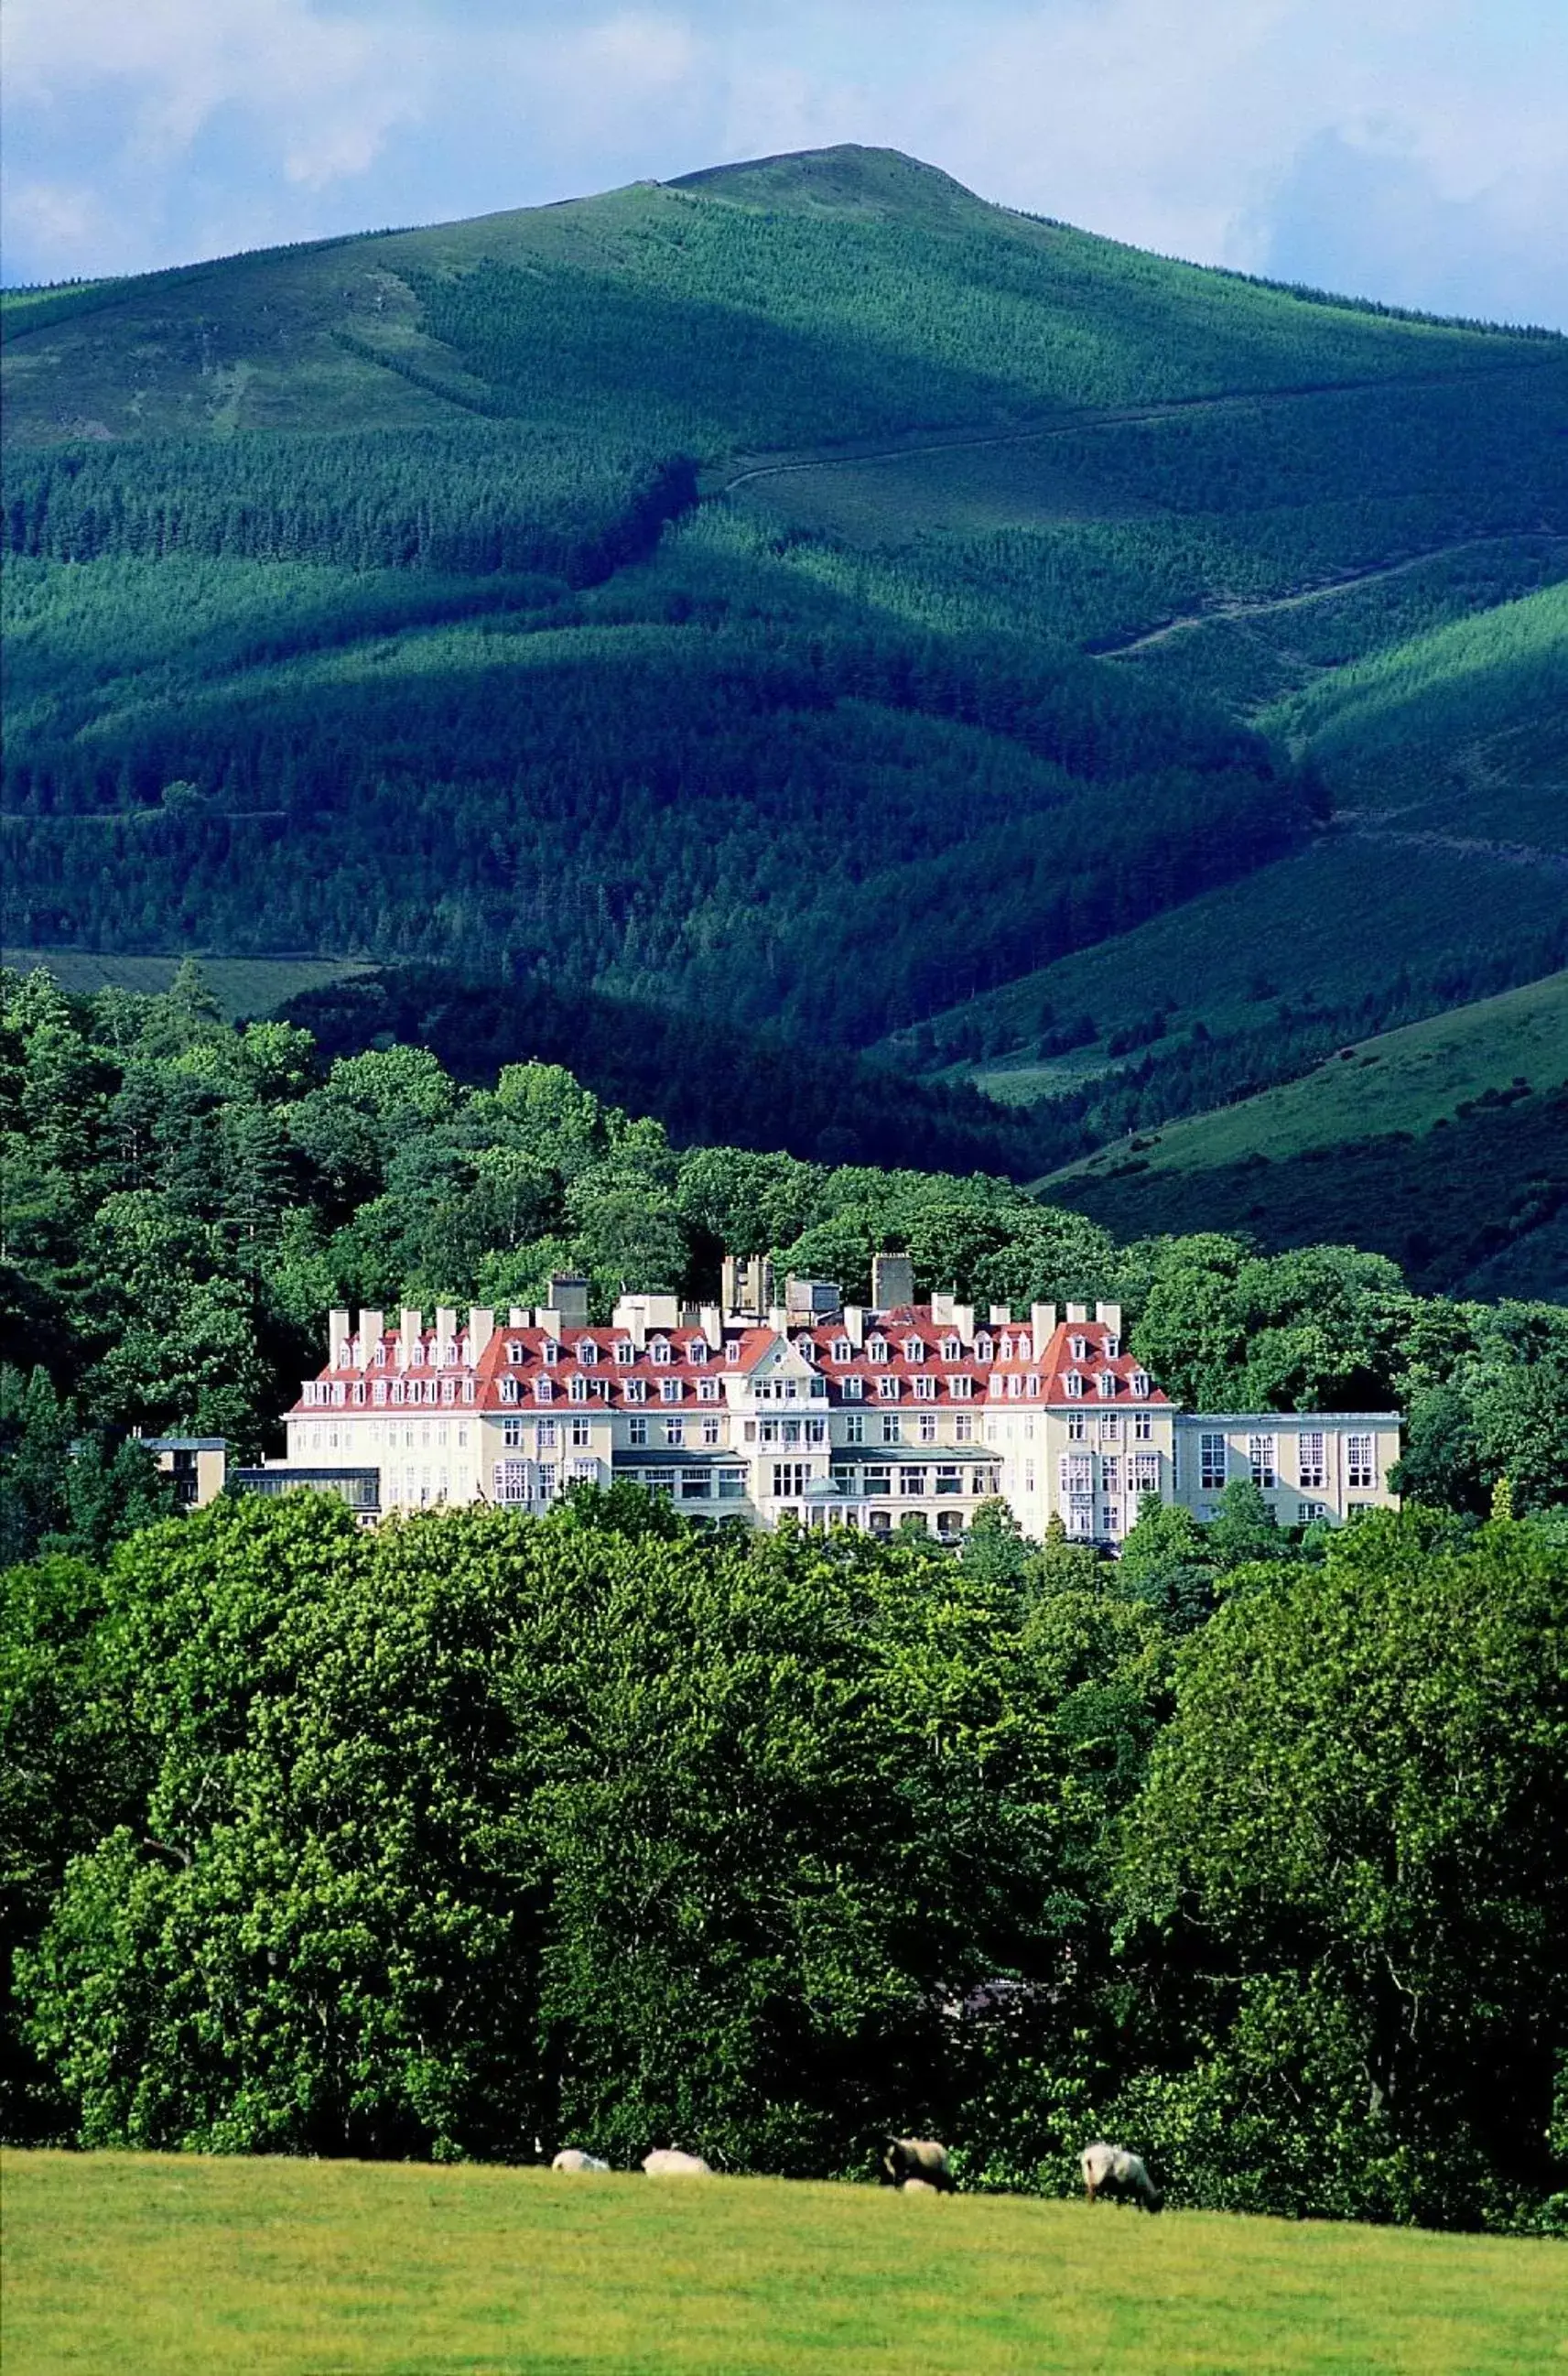
M 5 996 L 7 1556 L 97 1554 L 145 1516 L 131 1428 L 273 1442 L 330 1304 L 506 1309 L 580 1269 L 608 1316 L 622 1285 L 710 1300 L 722 1252 L 772 1252 L 860 1302 L 884 1247 L 912 1255 L 922 1293 L 1117 1297 L 1188 1407 L 1406 1409 L 1423 1499 L 1478 1514 L 1504 1483 L 1523 1511 L 1568 1499 L 1558 1304 L 1421 1297 L 1347 1247 L 1117 1245 L 995 1174 L 827 1140 L 815 1162 L 677 1148 L 549 1062 L 466 1086 L 418 1045 L 325 1060 L 297 1024 L 233 1029 L 192 967 L 162 998 L 69 1000 L 48 974 Z M 454 1038 L 485 1029 L 482 1007 L 442 1012 Z

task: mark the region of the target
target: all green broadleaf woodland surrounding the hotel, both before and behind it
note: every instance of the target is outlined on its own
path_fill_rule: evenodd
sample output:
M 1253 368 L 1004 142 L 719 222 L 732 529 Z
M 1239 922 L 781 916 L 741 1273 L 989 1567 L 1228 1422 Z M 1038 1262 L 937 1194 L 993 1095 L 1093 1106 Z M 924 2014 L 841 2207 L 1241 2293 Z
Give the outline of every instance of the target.
M 1349 1247 L 1117 1245 L 993 1174 L 675 1148 L 173 991 L 5 979 L 14 2136 L 855 2174 L 886 2124 L 1062 2188 L 1551 2229 L 1568 1314 Z M 1411 1411 L 1411 1506 L 1226 1490 L 1119 1561 L 703 1530 L 637 1490 L 373 1537 L 169 1516 L 126 1428 L 268 1440 L 328 1302 L 1114 1295 L 1207 1407 Z M 1556 2093 L 1554 2093 L 1556 2091 Z

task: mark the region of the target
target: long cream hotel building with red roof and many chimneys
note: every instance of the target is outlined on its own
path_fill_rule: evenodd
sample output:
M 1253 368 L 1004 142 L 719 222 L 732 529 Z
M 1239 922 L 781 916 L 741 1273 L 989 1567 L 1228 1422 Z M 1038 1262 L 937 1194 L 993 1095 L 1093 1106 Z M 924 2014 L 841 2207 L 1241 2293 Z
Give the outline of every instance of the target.
M 791 1281 L 765 1314 L 630 1295 L 596 1328 L 584 1283 L 563 1278 L 504 1323 L 335 1312 L 328 1366 L 287 1414 L 287 1468 L 375 1468 L 382 1514 L 539 1511 L 630 1478 L 696 1518 L 912 1518 L 957 1540 L 1000 1495 L 1026 1535 L 1060 1516 L 1109 1547 L 1145 1492 L 1207 1516 L 1231 1478 L 1283 1525 L 1342 1523 L 1395 1502 L 1397 1456 L 1392 1411 L 1178 1411 L 1124 1350 L 1117 1304 L 915 1304 L 908 1257 L 877 1259 L 867 1309 Z

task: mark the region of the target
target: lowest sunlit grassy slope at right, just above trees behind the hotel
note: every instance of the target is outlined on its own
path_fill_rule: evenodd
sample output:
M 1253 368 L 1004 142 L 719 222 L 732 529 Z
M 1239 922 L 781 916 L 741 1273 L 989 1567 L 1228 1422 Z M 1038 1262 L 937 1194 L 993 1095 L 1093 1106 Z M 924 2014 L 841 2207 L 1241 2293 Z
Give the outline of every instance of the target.
M 1352 1145 L 1390 1131 L 1430 1131 L 1440 1114 L 1516 1083 L 1568 1081 L 1568 974 L 1528 981 L 1497 998 L 1383 1031 L 1328 1057 L 1300 1081 L 1266 1088 L 1209 1114 L 1166 1121 L 1138 1138 L 1150 1171 L 1207 1171 L 1247 1155 L 1281 1162 L 1307 1148 Z M 1102 1174 L 1124 1162 L 1128 1140 L 1105 1148 L 1057 1178 Z

